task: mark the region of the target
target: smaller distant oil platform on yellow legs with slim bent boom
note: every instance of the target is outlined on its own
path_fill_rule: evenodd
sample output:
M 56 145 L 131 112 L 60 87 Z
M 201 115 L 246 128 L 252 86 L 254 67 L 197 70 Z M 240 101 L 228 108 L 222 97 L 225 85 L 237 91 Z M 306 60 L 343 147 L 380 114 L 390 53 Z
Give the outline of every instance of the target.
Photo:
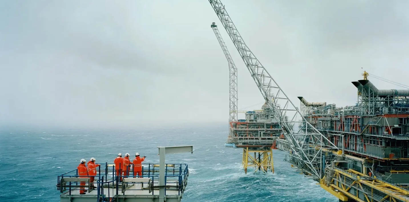
M 237 110 L 237 68 L 216 23 L 213 22 L 210 27 L 229 66 L 229 135 L 225 146 L 243 148 L 242 162 L 245 173 L 247 173 L 247 167 L 254 167 L 255 172 L 274 173 L 272 149 L 276 149 L 274 144 L 275 139 L 281 134 L 280 125 L 267 103 L 264 103 L 261 110 Z M 238 113 L 245 113 L 245 119 L 238 119 Z

